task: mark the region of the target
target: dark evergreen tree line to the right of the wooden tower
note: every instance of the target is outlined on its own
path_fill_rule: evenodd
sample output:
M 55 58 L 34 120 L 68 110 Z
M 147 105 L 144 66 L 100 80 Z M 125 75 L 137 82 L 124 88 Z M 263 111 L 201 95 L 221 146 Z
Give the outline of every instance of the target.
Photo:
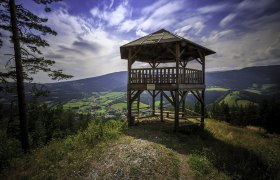
M 263 100 L 258 105 L 250 103 L 247 106 L 214 103 L 208 108 L 208 116 L 213 119 L 226 121 L 233 125 L 247 126 L 253 125 L 266 129 L 270 133 L 280 133 L 280 103 Z

